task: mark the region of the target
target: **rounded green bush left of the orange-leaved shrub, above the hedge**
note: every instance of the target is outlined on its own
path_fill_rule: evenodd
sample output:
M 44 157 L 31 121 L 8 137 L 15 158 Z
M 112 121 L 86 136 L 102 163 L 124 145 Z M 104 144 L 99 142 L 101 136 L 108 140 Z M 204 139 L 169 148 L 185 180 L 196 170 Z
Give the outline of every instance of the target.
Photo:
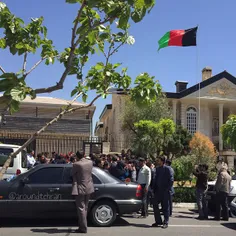
M 186 181 L 192 180 L 192 173 L 196 163 L 196 157 L 193 155 L 181 156 L 174 159 L 172 168 L 175 172 L 175 180 L 178 185 L 184 186 Z

